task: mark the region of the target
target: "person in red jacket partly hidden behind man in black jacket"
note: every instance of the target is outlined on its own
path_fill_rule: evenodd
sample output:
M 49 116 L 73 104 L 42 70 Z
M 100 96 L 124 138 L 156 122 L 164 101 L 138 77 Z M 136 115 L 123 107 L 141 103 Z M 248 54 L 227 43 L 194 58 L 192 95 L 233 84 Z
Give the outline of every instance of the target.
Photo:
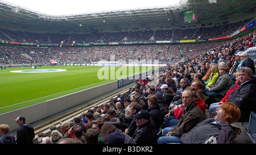
M 212 114 L 212 112 L 214 112 L 216 110 L 216 108 L 219 108 L 222 103 L 227 102 L 229 94 L 232 93 L 232 91 L 236 90 L 240 86 L 240 84 L 241 84 L 241 82 L 239 79 L 239 72 L 237 72 L 235 84 L 230 86 L 229 90 L 226 92 L 225 97 L 222 98 L 220 102 L 210 104 L 209 113 Z

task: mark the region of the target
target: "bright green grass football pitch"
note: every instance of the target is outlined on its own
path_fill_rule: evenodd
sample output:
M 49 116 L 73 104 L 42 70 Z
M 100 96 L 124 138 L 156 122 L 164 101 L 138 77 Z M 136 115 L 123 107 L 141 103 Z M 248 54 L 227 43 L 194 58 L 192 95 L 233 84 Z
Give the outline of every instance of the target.
M 99 79 L 97 73 L 101 68 L 100 66 L 38 67 L 38 69 L 67 70 L 51 73 L 10 72 L 32 69 L 31 67 L 0 70 L 0 114 L 117 80 L 110 79 L 110 76 L 109 79 Z M 118 68 L 120 67 L 116 66 L 115 71 Z M 133 70 L 136 72 L 138 69 Z M 112 74 L 110 71 L 109 73 Z M 139 72 L 142 72 L 142 68 Z

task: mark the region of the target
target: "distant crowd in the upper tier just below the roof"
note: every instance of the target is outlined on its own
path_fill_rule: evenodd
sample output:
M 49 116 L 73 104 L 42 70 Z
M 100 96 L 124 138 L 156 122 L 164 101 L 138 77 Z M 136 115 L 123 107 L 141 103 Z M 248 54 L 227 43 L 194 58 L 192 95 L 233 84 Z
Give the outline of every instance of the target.
M 114 43 L 134 41 L 167 41 L 167 40 L 208 40 L 213 37 L 220 37 L 232 34 L 241 26 L 245 26 L 250 19 L 238 23 L 229 23 L 213 27 L 187 28 L 186 30 L 138 30 L 98 33 L 33 33 L 22 31 L 10 31 L 0 28 L 0 39 L 3 41 L 16 41 L 20 43 L 35 44 L 77 44 L 83 43 Z

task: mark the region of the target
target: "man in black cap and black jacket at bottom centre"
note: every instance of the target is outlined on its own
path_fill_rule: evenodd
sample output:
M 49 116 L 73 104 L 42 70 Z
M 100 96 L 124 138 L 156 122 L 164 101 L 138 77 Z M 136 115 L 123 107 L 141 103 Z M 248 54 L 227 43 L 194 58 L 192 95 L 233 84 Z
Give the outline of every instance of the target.
M 146 110 L 141 110 L 134 115 L 137 123 L 137 129 L 133 135 L 133 140 L 137 144 L 156 143 L 156 131 L 152 128 L 150 114 Z

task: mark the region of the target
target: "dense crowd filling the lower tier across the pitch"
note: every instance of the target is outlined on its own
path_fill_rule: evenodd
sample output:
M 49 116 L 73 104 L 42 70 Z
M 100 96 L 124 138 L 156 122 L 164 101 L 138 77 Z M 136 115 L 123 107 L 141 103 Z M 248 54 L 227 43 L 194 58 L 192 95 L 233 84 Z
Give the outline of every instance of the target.
M 253 41 L 251 41 L 253 44 Z M 212 47 L 220 47 L 226 41 L 197 44 L 160 44 L 160 45 L 115 45 L 98 47 L 20 47 L 0 46 L 0 64 L 50 64 L 50 60 L 64 63 L 90 63 L 100 60 L 115 61 L 158 60 L 161 63 L 174 64 L 182 58 L 199 57 Z M 241 46 L 246 48 L 246 41 Z M 234 49 L 237 49 L 237 45 Z

